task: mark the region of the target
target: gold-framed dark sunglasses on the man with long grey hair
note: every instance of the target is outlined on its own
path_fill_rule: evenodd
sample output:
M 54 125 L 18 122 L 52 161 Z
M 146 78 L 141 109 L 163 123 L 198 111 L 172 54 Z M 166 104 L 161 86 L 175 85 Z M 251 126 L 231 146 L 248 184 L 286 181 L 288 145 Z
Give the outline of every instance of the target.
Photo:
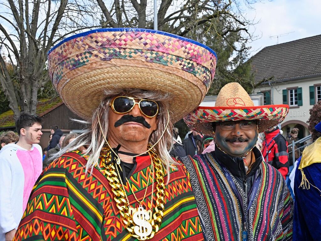
M 135 100 L 139 100 L 136 102 Z M 153 118 L 158 113 L 158 104 L 153 100 L 145 100 L 127 96 L 117 96 L 109 104 L 111 109 L 117 114 L 125 114 L 134 109 L 135 104 L 138 104 L 140 112 L 148 117 Z

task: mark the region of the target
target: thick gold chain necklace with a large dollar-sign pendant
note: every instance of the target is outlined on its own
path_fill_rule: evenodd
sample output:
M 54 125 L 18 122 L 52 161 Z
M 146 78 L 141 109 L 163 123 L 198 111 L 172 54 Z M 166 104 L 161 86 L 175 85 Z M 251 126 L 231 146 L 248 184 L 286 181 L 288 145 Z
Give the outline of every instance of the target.
M 129 205 L 129 200 L 125 191 L 124 184 L 121 178 L 120 181 L 117 178 L 117 173 L 115 171 L 118 172 L 118 175 L 119 171 L 118 168 L 115 168 L 112 163 L 110 149 L 102 150 L 100 154 L 101 156 L 105 157 L 105 161 L 103 162 L 104 173 L 106 179 L 109 182 L 109 185 L 111 186 L 112 192 L 114 193 L 113 199 L 116 202 L 116 206 L 122 217 L 123 223 L 126 226 L 126 229 L 132 237 L 135 237 L 138 240 L 151 239 L 160 228 L 163 218 L 163 211 L 165 209 L 164 172 L 160 159 L 157 157 L 156 153 L 153 150 L 149 151 L 149 154 L 152 157 L 152 163 L 154 164 L 154 167 L 152 168 L 155 168 L 156 170 L 155 178 L 157 183 L 155 212 L 154 214 L 152 214 L 152 208 L 146 211 L 141 205 L 138 209 L 132 208 Z M 151 200 L 152 199 L 153 192 Z

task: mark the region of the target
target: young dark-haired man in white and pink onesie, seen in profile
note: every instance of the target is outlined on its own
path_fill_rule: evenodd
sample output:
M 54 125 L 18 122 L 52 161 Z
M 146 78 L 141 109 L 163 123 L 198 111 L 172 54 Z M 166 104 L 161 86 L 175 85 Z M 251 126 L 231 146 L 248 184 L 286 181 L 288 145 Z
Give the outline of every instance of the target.
M 33 185 L 42 172 L 41 119 L 22 113 L 16 121 L 19 141 L 0 151 L 0 241 L 12 240 Z

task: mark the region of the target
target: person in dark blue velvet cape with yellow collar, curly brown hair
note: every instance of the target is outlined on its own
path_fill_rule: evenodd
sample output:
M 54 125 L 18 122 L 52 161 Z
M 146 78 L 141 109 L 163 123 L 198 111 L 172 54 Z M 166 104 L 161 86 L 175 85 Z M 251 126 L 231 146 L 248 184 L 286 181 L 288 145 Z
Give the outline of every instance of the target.
M 321 101 L 310 109 L 313 143 L 298 159 L 294 178 L 293 240 L 321 240 Z M 316 125 L 317 124 L 317 125 Z

